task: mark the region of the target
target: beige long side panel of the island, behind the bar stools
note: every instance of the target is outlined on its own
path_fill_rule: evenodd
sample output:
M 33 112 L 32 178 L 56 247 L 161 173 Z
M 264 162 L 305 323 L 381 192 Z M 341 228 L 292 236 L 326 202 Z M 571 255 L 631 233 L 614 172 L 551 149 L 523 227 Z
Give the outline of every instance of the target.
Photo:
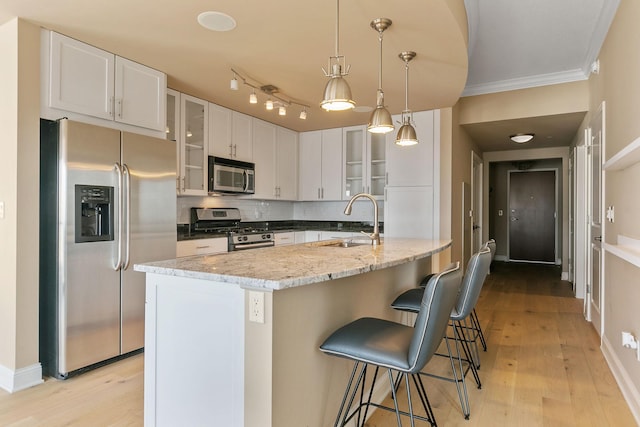
M 353 364 L 320 352 L 336 329 L 360 317 L 406 319 L 390 308 L 431 272 L 430 257 L 348 278 L 273 292 L 273 420 L 264 426 L 333 425 Z M 250 345 L 247 343 L 247 345 Z M 376 399 L 390 390 L 379 381 Z

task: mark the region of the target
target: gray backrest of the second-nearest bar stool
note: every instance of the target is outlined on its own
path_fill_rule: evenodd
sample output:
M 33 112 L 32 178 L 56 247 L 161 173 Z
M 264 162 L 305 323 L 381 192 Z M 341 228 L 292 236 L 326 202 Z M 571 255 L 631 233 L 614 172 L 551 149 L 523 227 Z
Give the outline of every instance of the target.
M 465 319 L 474 309 L 480 297 L 484 279 L 489 273 L 490 265 L 491 251 L 487 246 L 471 256 L 469 264 L 467 264 L 467 271 L 462 279 L 460 298 L 455 309 L 451 312 L 451 320 Z

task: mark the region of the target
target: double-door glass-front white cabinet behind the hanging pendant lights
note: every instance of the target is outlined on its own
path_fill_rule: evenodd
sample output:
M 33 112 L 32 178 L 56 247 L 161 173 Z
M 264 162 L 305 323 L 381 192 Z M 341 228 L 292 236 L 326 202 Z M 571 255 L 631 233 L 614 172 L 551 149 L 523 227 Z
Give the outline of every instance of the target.
M 371 134 L 366 126 L 343 128 L 342 198 L 358 193 L 383 198 L 385 186 L 385 135 Z

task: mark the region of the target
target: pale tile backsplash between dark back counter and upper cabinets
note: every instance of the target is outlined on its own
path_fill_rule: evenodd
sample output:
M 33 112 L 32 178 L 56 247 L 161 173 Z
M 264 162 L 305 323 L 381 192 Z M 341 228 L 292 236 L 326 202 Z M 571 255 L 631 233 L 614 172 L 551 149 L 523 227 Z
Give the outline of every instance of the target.
M 369 200 L 357 200 L 351 215 L 345 215 L 347 201 L 286 202 L 254 200 L 238 196 L 179 196 L 178 224 L 188 224 L 192 207 L 238 208 L 242 221 L 373 221 L 373 205 Z M 380 221 L 384 220 L 384 202 L 378 201 Z

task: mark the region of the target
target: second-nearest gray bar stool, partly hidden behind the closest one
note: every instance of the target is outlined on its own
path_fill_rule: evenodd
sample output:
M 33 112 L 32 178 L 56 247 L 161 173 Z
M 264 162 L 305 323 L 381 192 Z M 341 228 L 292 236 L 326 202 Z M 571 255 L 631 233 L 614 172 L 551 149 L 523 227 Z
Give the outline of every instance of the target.
M 455 382 L 458 398 L 460 399 L 460 407 L 465 419 L 469 419 L 469 415 L 471 414 L 465 379 L 469 370 L 473 374 L 478 388 L 482 387 L 480 376 L 477 371 L 477 365 L 480 364 L 476 344 L 478 335 L 475 333 L 473 324 L 469 326 L 467 319 L 471 317 L 471 312 L 478 301 L 482 285 L 489 271 L 490 263 L 491 252 L 487 246 L 471 256 L 469 263 L 467 264 L 467 270 L 464 278 L 462 279 L 458 301 L 456 302 L 454 309 L 451 311 L 450 320 L 453 328 L 453 339 L 456 345 L 456 355 L 454 359 L 449 343 L 449 337 L 445 336 L 448 354 L 442 356 L 449 357 L 451 369 L 453 371 L 453 378 L 423 372 L 424 375 Z M 423 289 L 420 287 L 409 289 L 398 296 L 393 303 L 391 303 L 391 307 L 396 310 L 416 313 L 419 310 L 419 301 L 422 292 Z M 470 344 L 475 346 L 475 357 Z M 462 353 L 464 354 L 464 357 L 462 356 Z M 458 365 L 457 368 L 456 362 Z M 467 364 L 466 369 L 463 366 L 463 362 Z

